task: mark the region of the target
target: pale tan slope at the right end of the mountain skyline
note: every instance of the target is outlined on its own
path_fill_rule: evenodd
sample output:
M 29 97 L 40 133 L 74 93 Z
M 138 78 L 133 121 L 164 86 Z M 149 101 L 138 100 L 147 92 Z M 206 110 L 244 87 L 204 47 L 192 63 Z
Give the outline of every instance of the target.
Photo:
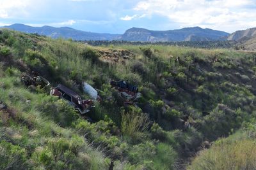
M 227 40 L 239 41 L 242 38 L 251 38 L 252 36 L 256 36 L 256 28 L 250 28 L 243 31 L 236 31 L 230 34 Z

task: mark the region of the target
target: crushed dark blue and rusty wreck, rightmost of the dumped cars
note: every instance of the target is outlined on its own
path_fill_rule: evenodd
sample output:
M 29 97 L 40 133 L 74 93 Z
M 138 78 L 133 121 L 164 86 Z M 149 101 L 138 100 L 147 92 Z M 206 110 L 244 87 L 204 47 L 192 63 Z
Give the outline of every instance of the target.
M 141 97 L 138 87 L 131 85 L 125 80 L 111 81 L 111 86 L 118 90 L 118 95 L 124 99 L 124 104 L 136 105 L 136 101 Z

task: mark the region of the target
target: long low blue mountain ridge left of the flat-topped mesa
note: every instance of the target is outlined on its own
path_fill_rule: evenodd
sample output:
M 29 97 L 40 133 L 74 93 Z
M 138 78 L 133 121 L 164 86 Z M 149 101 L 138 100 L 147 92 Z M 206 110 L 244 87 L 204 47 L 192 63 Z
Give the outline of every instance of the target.
M 22 31 L 26 33 L 37 33 L 51 38 L 72 38 L 74 40 L 113 40 L 116 39 L 119 34 L 100 34 L 95 32 L 85 32 L 72 29 L 70 27 L 31 27 L 23 24 L 13 24 L 10 26 L 4 26 L 5 28 L 13 29 L 15 31 Z

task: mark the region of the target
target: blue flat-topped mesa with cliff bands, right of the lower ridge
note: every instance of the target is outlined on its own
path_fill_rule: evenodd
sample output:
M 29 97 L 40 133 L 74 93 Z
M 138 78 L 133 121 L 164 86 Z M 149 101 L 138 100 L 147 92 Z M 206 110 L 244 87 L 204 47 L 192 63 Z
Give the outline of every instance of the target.
M 202 29 L 200 27 L 170 31 L 150 31 L 134 27 L 125 31 L 120 39 L 125 41 L 209 41 L 220 40 L 228 35 L 227 32 Z

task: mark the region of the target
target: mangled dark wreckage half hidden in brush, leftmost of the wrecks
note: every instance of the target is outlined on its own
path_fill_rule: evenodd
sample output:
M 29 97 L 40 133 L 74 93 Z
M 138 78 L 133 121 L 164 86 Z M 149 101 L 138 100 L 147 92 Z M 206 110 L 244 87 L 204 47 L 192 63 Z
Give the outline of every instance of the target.
M 32 71 L 32 74 L 25 74 L 22 76 L 21 81 L 26 86 L 33 85 L 35 87 L 40 86 L 42 89 L 49 87 L 50 83 L 48 80 L 40 76 L 39 73 Z

